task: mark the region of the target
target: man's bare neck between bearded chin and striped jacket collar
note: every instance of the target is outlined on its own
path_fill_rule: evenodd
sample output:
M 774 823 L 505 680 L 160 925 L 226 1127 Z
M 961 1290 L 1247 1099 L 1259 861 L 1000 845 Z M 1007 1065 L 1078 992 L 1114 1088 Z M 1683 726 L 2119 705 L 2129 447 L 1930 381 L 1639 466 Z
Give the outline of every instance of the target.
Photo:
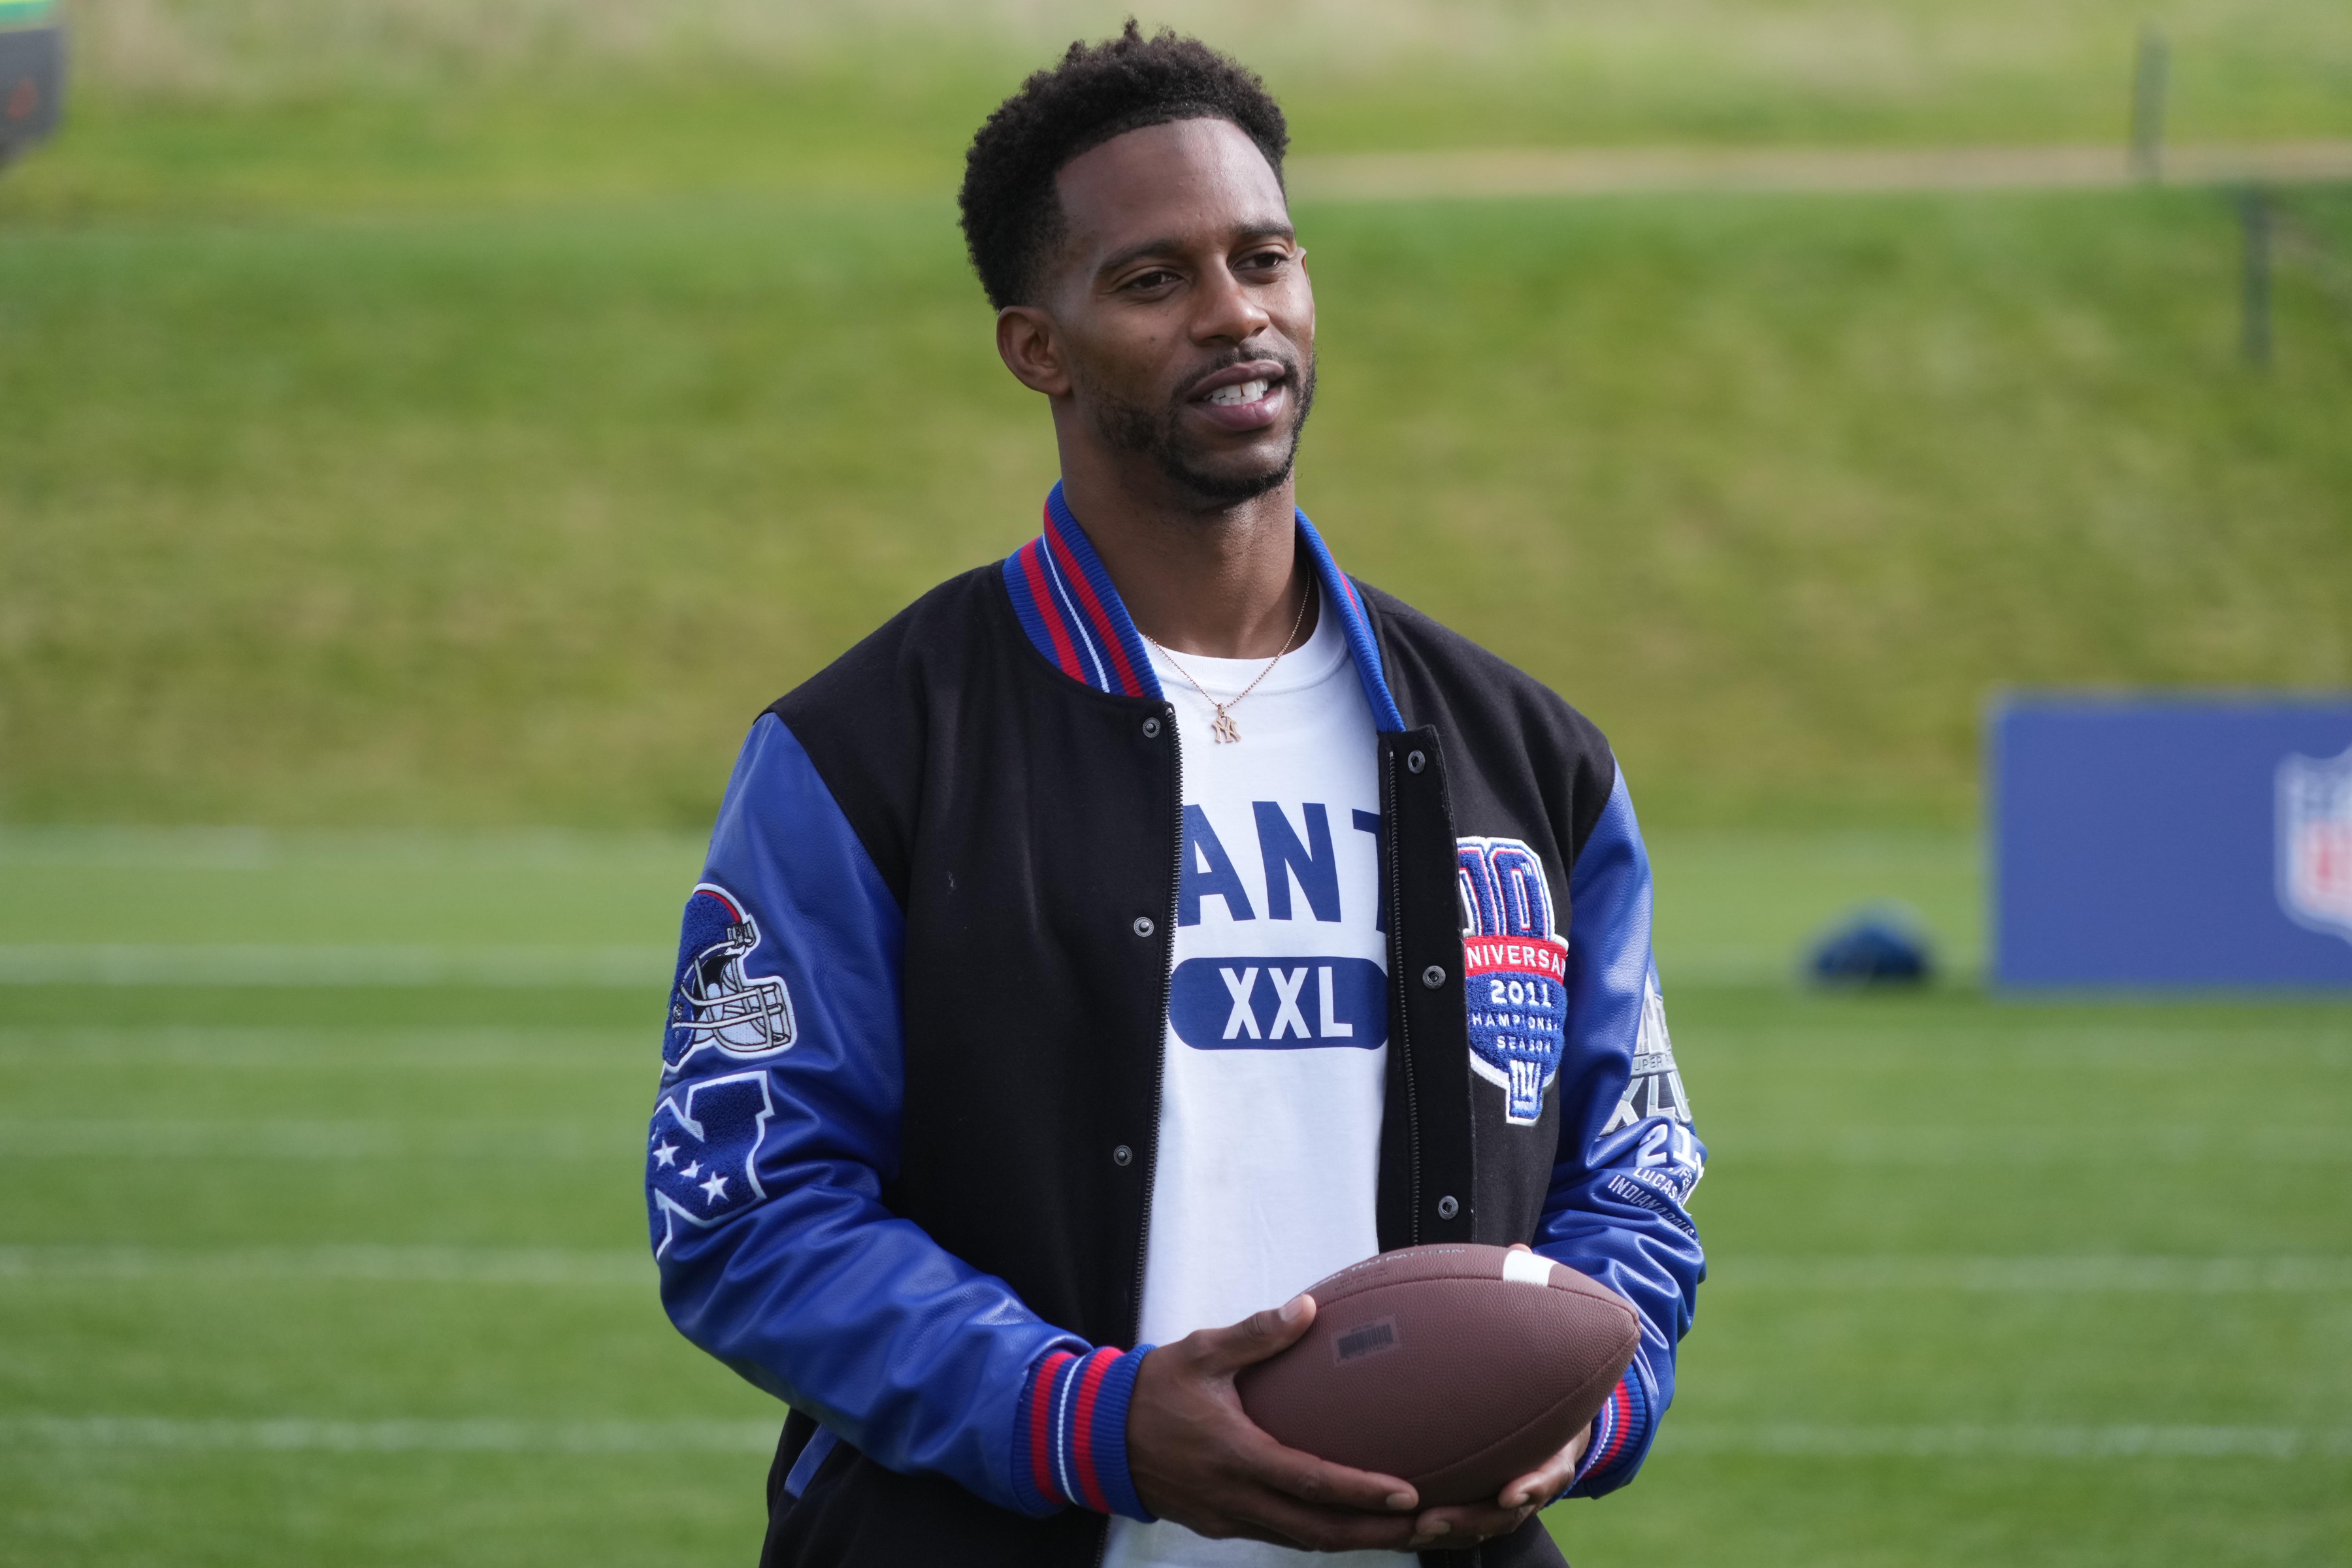
M 1063 449 L 1061 494 L 1103 557 L 1136 628 L 1164 649 L 1204 658 L 1272 658 L 1312 635 L 1315 569 L 1298 548 L 1296 501 L 1284 480 L 1235 505 L 1188 503 L 1152 473 L 1073 463 Z

